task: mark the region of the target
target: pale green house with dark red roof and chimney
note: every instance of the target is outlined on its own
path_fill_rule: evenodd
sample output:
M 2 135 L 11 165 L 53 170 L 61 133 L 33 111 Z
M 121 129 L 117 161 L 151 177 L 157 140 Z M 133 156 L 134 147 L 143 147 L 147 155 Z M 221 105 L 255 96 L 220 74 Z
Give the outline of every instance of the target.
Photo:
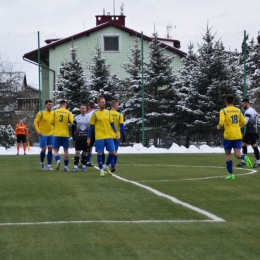
M 107 63 L 111 64 L 111 73 L 116 73 L 119 78 L 124 78 L 125 70 L 122 68 L 124 62 L 129 61 L 131 48 L 134 46 L 135 38 L 141 38 L 141 32 L 134 31 L 125 26 L 124 14 L 96 15 L 96 26 L 81 33 L 62 39 L 47 39 L 46 46 L 24 54 L 23 59 L 28 62 L 39 64 L 41 67 L 42 103 L 46 99 L 53 98 L 56 90 L 59 68 L 70 59 L 71 47 L 77 48 L 77 58 L 82 60 L 82 67 L 91 63 L 95 47 L 101 46 Z M 177 71 L 182 67 L 181 58 L 186 55 L 180 50 L 180 41 L 170 38 L 158 38 L 167 54 L 173 54 L 173 68 Z M 143 35 L 144 61 L 148 58 L 148 44 L 151 37 Z M 141 47 L 141 43 L 140 43 Z M 40 59 L 38 58 L 40 53 Z M 85 69 L 86 75 L 89 71 Z

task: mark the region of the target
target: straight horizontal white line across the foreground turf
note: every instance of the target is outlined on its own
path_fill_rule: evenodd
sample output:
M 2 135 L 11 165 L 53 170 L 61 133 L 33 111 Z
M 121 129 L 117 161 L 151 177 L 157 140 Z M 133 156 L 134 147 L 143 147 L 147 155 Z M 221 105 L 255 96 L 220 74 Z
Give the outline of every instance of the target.
M 34 225 L 60 225 L 60 224 L 139 224 L 139 223 L 203 223 L 216 222 L 216 220 L 71 220 L 71 221 L 46 221 L 46 222 L 21 222 L 0 223 L 0 226 L 34 226 Z M 223 222 L 223 221 L 221 221 Z

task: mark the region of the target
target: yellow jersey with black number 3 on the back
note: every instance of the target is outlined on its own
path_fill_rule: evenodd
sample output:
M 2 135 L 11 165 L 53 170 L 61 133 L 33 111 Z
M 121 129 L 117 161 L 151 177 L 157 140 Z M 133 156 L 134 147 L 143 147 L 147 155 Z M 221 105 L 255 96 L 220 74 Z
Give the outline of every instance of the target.
M 73 123 L 72 113 L 66 108 L 58 108 L 54 110 L 51 119 L 53 125 L 53 136 L 69 137 L 69 123 Z

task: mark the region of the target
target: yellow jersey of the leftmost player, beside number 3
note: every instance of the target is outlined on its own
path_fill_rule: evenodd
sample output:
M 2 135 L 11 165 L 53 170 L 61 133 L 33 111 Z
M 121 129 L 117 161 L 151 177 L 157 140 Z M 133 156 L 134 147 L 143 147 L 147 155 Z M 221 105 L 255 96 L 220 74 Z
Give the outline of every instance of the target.
M 36 132 L 41 132 L 42 135 L 53 135 L 52 116 L 53 111 L 39 111 L 33 122 Z

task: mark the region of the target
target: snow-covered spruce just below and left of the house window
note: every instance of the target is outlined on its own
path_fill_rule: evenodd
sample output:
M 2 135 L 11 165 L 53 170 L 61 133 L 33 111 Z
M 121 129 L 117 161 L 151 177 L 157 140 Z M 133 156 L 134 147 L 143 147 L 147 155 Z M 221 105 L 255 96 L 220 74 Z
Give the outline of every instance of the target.
M 85 91 L 88 93 L 89 99 L 96 101 L 102 96 L 106 99 L 107 106 L 110 101 L 118 99 L 118 89 L 120 81 L 116 74 L 110 73 L 111 64 L 106 62 L 106 58 L 102 56 L 101 46 L 95 47 L 92 55 L 92 63 L 87 64 L 90 76 L 85 84 Z

